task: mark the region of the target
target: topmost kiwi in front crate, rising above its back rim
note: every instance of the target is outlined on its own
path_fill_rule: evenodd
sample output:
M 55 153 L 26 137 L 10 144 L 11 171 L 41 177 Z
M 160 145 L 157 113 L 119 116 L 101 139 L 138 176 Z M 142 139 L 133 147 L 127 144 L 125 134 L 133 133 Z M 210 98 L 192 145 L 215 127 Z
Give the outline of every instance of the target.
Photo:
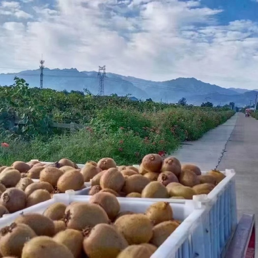
M 100 205 L 108 214 L 108 217 L 113 220 L 120 210 L 120 204 L 115 195 L 111 193 L 97 193 L 90 197 L 89 203 Z

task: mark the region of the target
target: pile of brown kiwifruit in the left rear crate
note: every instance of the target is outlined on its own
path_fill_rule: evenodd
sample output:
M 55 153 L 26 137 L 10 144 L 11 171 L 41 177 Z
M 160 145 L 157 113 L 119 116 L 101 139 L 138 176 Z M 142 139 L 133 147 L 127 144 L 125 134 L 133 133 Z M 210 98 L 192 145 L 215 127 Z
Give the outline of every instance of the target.
M 39 179 L 40 182 L 33 182 Z M 52 198 L 55 193 L 85 188 L 84 176 L 69 159 L 50 165 L 16 161 L 0 167 L 0 218 Z

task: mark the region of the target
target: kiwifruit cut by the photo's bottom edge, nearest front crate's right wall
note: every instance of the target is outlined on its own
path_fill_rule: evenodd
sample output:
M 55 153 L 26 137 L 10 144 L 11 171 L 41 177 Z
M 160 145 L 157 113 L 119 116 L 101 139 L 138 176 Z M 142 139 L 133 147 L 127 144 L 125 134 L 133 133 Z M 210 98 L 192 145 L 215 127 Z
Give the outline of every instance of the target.
M 117 258 L 150 258 L 154 252 L 149 247 L 143 246 L 143 244 L 130 245 Z

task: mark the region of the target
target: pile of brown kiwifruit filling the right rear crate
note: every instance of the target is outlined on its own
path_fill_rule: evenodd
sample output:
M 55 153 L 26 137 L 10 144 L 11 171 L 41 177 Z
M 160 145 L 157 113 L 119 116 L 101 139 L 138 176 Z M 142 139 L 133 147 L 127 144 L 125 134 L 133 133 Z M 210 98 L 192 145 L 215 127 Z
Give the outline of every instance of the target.
M 101 172 L 97 168 L 102 169 Z M 94 173 L 93 173 L 94 171 Z M 225 178 L 222 172 L 211 170 L 201 174 L 193 164 L 180 164 L 174 157 L 165 160 L 160 155 L 148 154 L 138 168 L 116 167 L 111 158 L 98 163 L 88 162 L 82 169 L 90 180 L 89 195 L 110 192 L 117 197 L 193 199 L 194 195 L 209 194 Z

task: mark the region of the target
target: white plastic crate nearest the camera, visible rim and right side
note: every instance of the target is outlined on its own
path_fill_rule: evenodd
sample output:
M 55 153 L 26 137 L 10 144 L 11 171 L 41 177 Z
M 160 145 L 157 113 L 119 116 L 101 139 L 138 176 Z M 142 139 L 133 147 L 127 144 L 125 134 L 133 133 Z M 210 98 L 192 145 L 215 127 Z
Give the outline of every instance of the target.
M 77 196 L 70 194 L 56 194 L 52 200 L 44 201 L 32 207 L 26 208 L 16 214 L 10 214 L 0 219 L 0 228 L 11 224 L 21 213 L 40 213 L 55 202 L 69 204 L 73 201 L 87 202 L 89 196 Z M 133 212 L 144 213 L 147 207 L 156 200 L 149 202 L 139 202 L 131 200 L 121 200 L 120 211 L 130 210 Z M 183 221 L 181 225 L 167 238 L 158 248 L 151 258 L 207 258 L 205 257 L 204 241 L 207 233 L 203 226 L 205 209 L 196 208 L 198 202 L 186 201 L 185 203 L 170 203 L 173 209 L 173 218 Z M 201 205 L 201 203 L 199 203 Z

